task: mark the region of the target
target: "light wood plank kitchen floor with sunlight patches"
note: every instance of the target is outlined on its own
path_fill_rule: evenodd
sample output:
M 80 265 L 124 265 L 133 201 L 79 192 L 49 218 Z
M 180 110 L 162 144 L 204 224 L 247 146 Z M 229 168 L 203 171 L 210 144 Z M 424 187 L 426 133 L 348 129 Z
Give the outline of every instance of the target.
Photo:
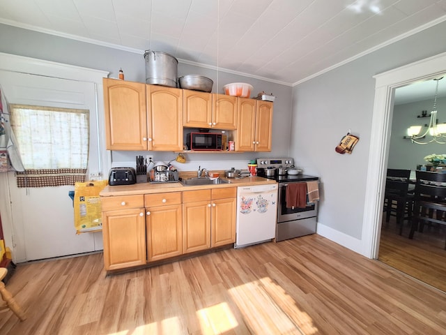
M 102 253 L 19 265 L 0 334 L 446 334 L 446 295 L 317 234 L 105 276 Z

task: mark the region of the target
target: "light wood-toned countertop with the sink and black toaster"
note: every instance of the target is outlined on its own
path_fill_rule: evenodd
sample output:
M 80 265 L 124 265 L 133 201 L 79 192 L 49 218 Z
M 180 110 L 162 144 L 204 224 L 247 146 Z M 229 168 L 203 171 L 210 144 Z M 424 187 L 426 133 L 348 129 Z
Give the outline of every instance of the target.
M 220 177 L 222 178 L 222 177 Z M 149 194 L 149 193 L 164 193 L 164 192 L 180 192 L 180 191 L 193 191 L 203 190 L 208 188 L 227 188 L 238 186 L 253 186 L 253 185 L 267 185 L 276 184 L 275 180 L 266 179 L 262 177 L 243 177 L 237 178 L 222 178 L 229 181 L 228 184 L 216 184 L 216 185 L 197 185 L 197 186 L 184 186 L 179 181 L 176 183 L 141 183 L 134 185 L 117 185 L 117 186 L 105 186 L 100 191 L 101 197 L 111 197 L 114 195 L 137 195 L 137 194 Z

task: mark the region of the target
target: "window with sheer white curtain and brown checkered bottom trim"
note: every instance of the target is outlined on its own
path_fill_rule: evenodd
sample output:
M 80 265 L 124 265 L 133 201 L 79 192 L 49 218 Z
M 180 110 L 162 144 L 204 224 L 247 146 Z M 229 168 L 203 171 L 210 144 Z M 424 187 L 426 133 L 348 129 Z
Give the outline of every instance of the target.
M 84 181 L 89 157 L 89 110 L 10 105 L 11 128 L 25 172 L 17 186 Z

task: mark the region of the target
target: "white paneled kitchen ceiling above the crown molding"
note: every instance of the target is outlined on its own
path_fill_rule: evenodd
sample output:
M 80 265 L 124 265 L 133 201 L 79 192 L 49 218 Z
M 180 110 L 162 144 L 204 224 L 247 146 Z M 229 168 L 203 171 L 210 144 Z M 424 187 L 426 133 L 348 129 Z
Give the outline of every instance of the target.
M 443 20 L 446 0 L 0 1 L 1 23 L 289 85 Z

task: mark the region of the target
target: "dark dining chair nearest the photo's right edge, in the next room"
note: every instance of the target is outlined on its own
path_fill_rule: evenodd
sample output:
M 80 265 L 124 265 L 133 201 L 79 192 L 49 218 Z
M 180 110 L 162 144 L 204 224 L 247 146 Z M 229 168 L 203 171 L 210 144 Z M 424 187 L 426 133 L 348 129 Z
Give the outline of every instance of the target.
M 414 207 L 409 239 L 415 231 L 423 232 L 426 223 L 446 225 L 446 173 L 416 172 Z M 446 249 L 446 241 L 445 241 Z

